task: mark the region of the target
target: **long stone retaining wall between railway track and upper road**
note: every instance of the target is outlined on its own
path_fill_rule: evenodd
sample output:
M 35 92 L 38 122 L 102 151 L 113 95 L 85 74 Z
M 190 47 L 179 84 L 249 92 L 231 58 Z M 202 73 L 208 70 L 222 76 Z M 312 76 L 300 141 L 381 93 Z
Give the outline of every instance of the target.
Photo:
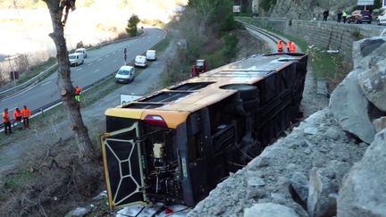
M 384 28 L 368 24 L 251 18 L 257 27 L 299 38 L 321 49 L 339 50 L 352 59 L 352 45 L 362 38 L 380 36 Z

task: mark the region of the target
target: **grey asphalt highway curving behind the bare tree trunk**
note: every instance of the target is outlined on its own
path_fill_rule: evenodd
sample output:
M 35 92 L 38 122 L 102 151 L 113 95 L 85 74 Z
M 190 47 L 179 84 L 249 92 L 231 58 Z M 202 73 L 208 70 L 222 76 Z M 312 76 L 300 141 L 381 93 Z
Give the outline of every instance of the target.
M 164 31 L 160 29 L 144 30 L 145 35 L 143 37 L 88 51 L 88 57 L 85 59 L 84 64 L 71 67 L 73 85 L 78 85 L 80 88 L 86 87 L 96 80 L 117 71 L 124 63 L 124 48 L 127 48 L 127 60 L 130 63 L 136 55 L 144 54 L 147 49 L 155 46 L 165 37 Z M 21 108 L 26 104 L 29 110 L 33 111 L 43 105 L 55 102 L 60 98 L 56 81 L 57 73 L 54 73 L 39 82 L 38 85 L 27 88 L 17 95 L 2 99 L 0 101 L 1 112 L 4 108 L 8 108 L 10 117 L 13 118 L 13 110 L 16 107 Z M 93 91 L 97 91 L 97 89 Z

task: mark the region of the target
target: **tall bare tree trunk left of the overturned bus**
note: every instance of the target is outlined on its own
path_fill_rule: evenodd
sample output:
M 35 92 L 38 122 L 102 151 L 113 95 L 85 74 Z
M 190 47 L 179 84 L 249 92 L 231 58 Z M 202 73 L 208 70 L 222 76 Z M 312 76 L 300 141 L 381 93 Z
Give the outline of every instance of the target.
M 92 159 L 95 156 L 94 146 L 88 137 L 88 129 L 84 125 L 80 114 L 80 103 L 74 98 L 74 88 L 71 84 L 70 64 L 68 51 L 64 38 L 64 25 L 67 16 L 75 10 L 76 0 L 43 0 L 51 15 L 51 21 L 54 32 L 49 36 L 54 40 L 56 46 L 56 58 L 58 61 L 58 79 L 57 84 L 62 97 L 64 106 L 67 108 L 71 119 L 71 129 L 75 134 L 75 139 L 79 147 L 80 156 L 86 156 Z

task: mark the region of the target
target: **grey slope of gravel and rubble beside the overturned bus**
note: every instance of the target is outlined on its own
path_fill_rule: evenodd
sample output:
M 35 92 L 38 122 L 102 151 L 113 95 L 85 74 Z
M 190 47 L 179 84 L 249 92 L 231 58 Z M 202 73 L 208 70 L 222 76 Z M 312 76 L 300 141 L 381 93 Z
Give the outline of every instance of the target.
M 341 179 L 366 147 L 348 138 L 326 108 L 231 174 L 188 216 L 242 216 L 245 208 L 268 203 L 286 206 L 298 216 L 336 213 Z M 311 181 L 310 171 L 315 171 Z

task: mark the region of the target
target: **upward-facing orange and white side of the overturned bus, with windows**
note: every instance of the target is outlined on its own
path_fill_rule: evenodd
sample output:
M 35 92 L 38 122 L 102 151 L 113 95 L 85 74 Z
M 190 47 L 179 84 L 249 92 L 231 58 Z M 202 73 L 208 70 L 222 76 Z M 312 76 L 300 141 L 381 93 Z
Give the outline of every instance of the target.
M 169 88 L 164 88 L 129 104 L 108 109 L 105 115 L 143 119 L 139 111 L 146 113 L 194 113 L 210 104 L 237 93 L 235 89 L 224 89 L 230 84 L 255 84 L 272 73 L 281 71 L 293 62 L 304 58 L 305 54 L 263 54 L 253 55 L 235 63 L 200 74 Z M 137 115 L 128 117 L 129 111 Z M 141 116 L 141 118 L 139 118 Z M 172 115 L 173 116 L 173 115 Z

